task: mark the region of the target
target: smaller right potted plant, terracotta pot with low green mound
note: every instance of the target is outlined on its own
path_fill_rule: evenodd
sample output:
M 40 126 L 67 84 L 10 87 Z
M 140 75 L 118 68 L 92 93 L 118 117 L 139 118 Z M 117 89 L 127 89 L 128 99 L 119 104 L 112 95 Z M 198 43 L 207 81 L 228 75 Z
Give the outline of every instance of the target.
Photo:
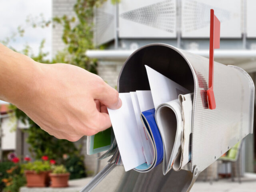
M 68 187 L 70 173 L 63 165 L 54 166 L 50 173 L 51 187 Z

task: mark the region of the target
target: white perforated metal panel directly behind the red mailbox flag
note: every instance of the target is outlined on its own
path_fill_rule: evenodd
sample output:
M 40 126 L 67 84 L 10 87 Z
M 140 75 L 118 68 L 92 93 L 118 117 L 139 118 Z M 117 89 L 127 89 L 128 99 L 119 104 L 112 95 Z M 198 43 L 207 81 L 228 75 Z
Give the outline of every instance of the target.
M 220 20 L 220 37 L 240 38 L 240 0 L 182 0 L 182 37 L 209 38 L 210 9 Z

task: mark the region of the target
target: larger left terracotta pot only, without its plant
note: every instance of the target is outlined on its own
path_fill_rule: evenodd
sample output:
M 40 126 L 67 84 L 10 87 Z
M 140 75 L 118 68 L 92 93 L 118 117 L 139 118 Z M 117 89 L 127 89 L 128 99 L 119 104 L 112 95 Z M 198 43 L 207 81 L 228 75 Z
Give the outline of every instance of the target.
M 49 171 L 36 173 L 35 171 L 25 170 L 27 187 L 45 187 L 48 186 Z

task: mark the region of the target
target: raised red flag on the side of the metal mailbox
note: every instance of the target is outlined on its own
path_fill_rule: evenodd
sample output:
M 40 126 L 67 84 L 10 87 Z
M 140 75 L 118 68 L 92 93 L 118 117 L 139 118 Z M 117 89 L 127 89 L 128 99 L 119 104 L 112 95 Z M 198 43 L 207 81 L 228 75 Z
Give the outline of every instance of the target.
M 214 49 L 218 49 L 218 48 L 220 48 L 220 21 L 214 15 L 214 10 L 211 9 L 209 89 L 207 90 L 208 106 L 210 109 L 216 108 L 215 97 L 213 93 L 213 64 L 214 64 Z

